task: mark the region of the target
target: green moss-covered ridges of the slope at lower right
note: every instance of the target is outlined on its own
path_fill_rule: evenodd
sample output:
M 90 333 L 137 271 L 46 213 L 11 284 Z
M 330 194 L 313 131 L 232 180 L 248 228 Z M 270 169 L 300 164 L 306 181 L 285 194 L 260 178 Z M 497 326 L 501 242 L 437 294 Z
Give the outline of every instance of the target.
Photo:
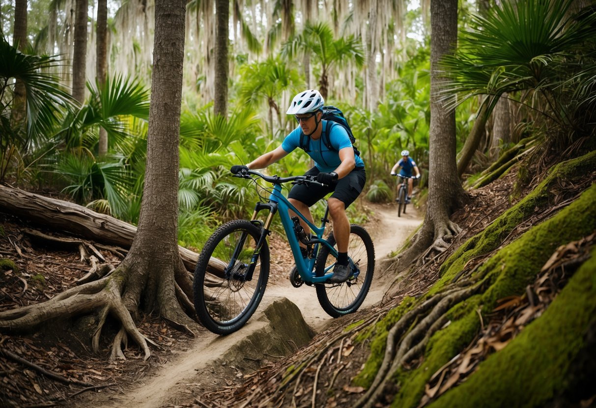
M 536 212 L 545 211 L 552 206 L 553 197 L 551 191 L 554 187 L 560 188 L 565 182 L 589 173 L 594 168 L 596 168 L 596 152 L 591 152 L 579 159 L 561 163 L 551 170 L 548 177 L 532 193 L 496 219 L 485 231 L 470 238 L 470 240 L 463 244 L 454 255 L 443 263 L 440 269 L 440 280 L 437 281 L 426 296 L 417 300 L 407 299 L 378 322 L 373 332 L 367 332 L 367 335 L 371 335 L 371 355 L 365 368 L 356 376 L 354 380 L 355 384 L 370 387 L 383 360 L 387 333 L 408 310 L 429 299 L 433 294 L 444 290 L 455 278 L 460 277 L 465 265 L 471 259 L 487 256 L 491 252 L 495 252 L 485 263 L 475 269 L 473 274 L 468 276 L 471 280 L 482 281 L 483 292 L 468 298 L 464 302 L 458 303 L 449 310 L 448 317 L 451 324 L 433 335 L 424 352 L 423 363 L 418 368 L 411 371 L 401 369 L 395 373 L 398 393 L 393 401 L 393 406 L 418 406 L 420 398 L 424 394 L 424 387 L 430 376 L 467 347 L 479 333 L 479 310 L 482 310 L 482 313 L 488 313 L 496 305 L 497 300 L 511 295 L 522 295 L 526 286 L 534 280 L 542 265 L 547 262 L 558 246 L 578 240 L 596 230 L 596 206 L 594 206 L 594 202 L 596 202 L 596 186 L 592 186 L 579 199 L 558 212 L 553 218 L 530 228 L 519 239 L 499 249 L 505 238 L 524 219 L 527 219 Z M 582 271 L 585 271 L 585 269 L 586 266 L 583 266 Z M 591 270 L 594 270 L 594 265 L 592 265 Z M 585 274 L 586 272 L 582 273 Z M 573 277 L 573 281 L 575 280 L 583 280 L 585 284 L 588 284 L 588 287 L 583 288 L 584 293 L 578 294 L 579 297 L 576 301 L 588 302 L 589 299 L 594 299 L 593 292 L 596 290 L 594 282 L 589 281 L 589 277 L 582 274 L 577 274 L 576 277 Z M 575 285 L 570 286 L 571 289 L 566 288 L 565 290 L 569 292 L 575 288 Z M 565 299 L 570 299 L 571 297 L 571 295 L 567 294 L 563 297 L 563 300 L 560 297 L 557 298 L 557 302 L 564 302 Z M 490 364 L 494 365 L 492 369 L 495 372 L 492 375 L 498 376 L 499 381 L 491 381 L 489 378 L 484 378 L 482 381 L 485 382 L 474 380 L 474 386 L 479 388 L 479 384 L 486 383 L 483 387 L 491 388 L 491 391 L 487 391 L 487 393 L 491 395 L 493 393 L 495 395 L 499 394 L 501 397 L 495 397 L 494 400 L 496 402 L 494 404 L 490 403 L 487 405 L 488 401 L 491 401 L 490 397 L 486 398 L 486 394 L 480 391 L 474 393 L 473 390 L 476 388 L 465 385 L 471 382 L 471 379 L 476 376 L 473 375 L 464 384 L 439 398 L 436 406 L 446 406 L 443 404 L 451 404 L 450 406 L 505 406 L 507 403 L 516 405 L 514 401 L 524 401 L 523 406 L 540 406 L 541 403 L 547 401 L 554 394 L 560 393 L 561 388 L 564 388 L 562 384 L 564 384 L 563 380 L 566 367 L 564 362 L 560 361 L 560 355 L 546 355 L 544 350 L 549 350 L 549 353 L 563 354 L 565 359 L 571 360 L 573 350 L 578 350 L 578 347 L 581 346 L 576 344 L 578 339 L 581 341 L 583 331 L 585 331 L 586 325 L 591 321 L 590 316 L 594 315 L 594 309 L 596 308 L 594 305 L 596 303 L 591 302 L 591 305 L 591 307 L 585 307 L 581 315 L 578 315 L 579 322 L 574 322 L 573 324 L 569 324 L 568 322 L 549 322 L 542 324 L 549 329 L 558 327 L 551 334 L 560 332 L 564 328 L 570 331 L 569 336 L 565 335 L 563 339 L 557 338 L 556 341 L 550 341 L 548 339 L 552 336 L 544 336 L 545 333 L 542 332 L 544 337 L 539 339 L 537 334 L 531 334 L 535 330 L 536 333 L 544 331 L 544 329 L 539 329 L 541 325 L 538 324 L 538 321 L 541 319 L 538 319 L 538 321 L 524 330 L 524 332 L 529 331 L 530 333 L 519 336 L 505 349 L 517 351 L 508 351 L 507 354 L 504 354 L 507 357 L 497 357 L 501 353 L 496 353 L 495 357 L 491 357 L 491 359 L 483 364 L 484 366 L 491 362 Z M 575 310 L 576 306 L 567 305 L 557 307 Z M 550 313 L 554 317 L 554 313 L 556 312 Z M 579 312 L 574 311 L 574 313 Z M 533 327 L 536 327 L 536 329 Z M 529 330 L 530 328 L 532 329 Z M 572 341 L 570 340 L 571 338 L 575 340 Z M 536 341 L 533 342 L 530 340 Z M 548 343 L 548 347 L 546 345 L 542 347 L 542 342 Z M 520 345 L 511 347 L 513 344 Z M 555 352 L 554 350 L 558 351 Z M 528 354 L 532 353 L 534 355 L 530 358 Z M 542 364 L 536 363 L 533 366 L 532 364 L 527 364 L 522 359 L 522 354 L 524 358 L 532 361 L 540 360 Z M 511 360 L 511 363 L 508 363 L 508 360 Z M 519 372 L 518 365 L 524 366 L 524 373 L 511 376 L 511 373 Z M 553 369 L 558 370 L 558 374 L 551 373 Z M 547 370 L 546 372 L 550 376 L 549 381 L 541 379 L 541 377 L 544 377 L 545 370 Z M 479 372 L 481 371 L 483 370 Z M 526 376 L 532 375 L 535 376 L 532 377 L 533 379 L 526 378 Z M 508 378 L 507 381 L 501 381 L 503 376 L 511 376 L 511 378 Z M 522 379 L 523 382 L 527 379 L 528 387 L 532 391 L 531 397 L 520 398 L 519 395 L 512 395 L 514 393 L 508 391 L 514 384 L 520 384 Z M 455 391 L 464 388 L 463 385 L 465 385 L 466 391 Z M 542 387 L 541 390 L 538 390 L 540 387 Z M 519 390 L 520 394 L 524 393 L 524 389 L 520 389 L 519 385 L 516 390 Z M 470 398 L 471 394 L 477 394 L 480 399 L 474 400 Z M 471 401 L 474 401 L 474 403 Z

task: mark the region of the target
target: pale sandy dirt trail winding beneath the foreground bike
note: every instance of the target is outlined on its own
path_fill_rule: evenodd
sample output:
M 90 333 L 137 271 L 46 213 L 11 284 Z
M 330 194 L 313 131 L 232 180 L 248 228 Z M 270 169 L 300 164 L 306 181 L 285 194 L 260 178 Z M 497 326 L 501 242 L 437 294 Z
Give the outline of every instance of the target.
M 367 230 L 373 237 L 378 265 L 381 259 L 386 258 L 387 255 L 402 245 L 403 241 L 418 227 L 422 220 L 413 206 L 408 206 L 408 213 L 402 214 L 401 217 L 397 215 L 395 203 L 369 206 L 378 217 L 378 220 L 367 225 Z M 368 307 L 379 302 L 385 293 L 386 285 L 392 281 L 391 277 L 383 276 L 383 271 L 376 269 L 373 286 L 362 307 Z M 105 397 L 97 395 L 94 398 L 94 406 L 108 408 L 113 407 L 116 403 L 126 407 L 143 408 L 171 406 L 172 397 L 176 393 L 183 392 L 182 390 L 193 385 L 198 385 L 190 384 L 195 381 L 197 372 L 200 372 L 210 362 L 222 356 L 222 353 L 225 353 L 233 344 L 263 326 L 263 322 L 257 319 L 257 315 L 278 297 L 286 297 L 296 304 L 306 323 L 317 332 L 322 331 L 325 325 L 333 320 L 321 309 L 313 288 L 306 285 L 294 288 L 288 280 L 272 281 L 265 291 L 259 309 L 246 327 L 225 337 L 210 332 L 201 333 L 193 343 L 188 344 L 188 351 L 180 353 L 172 361 L 167 362 L 159 372 L 139 381 L 134 388 L 123 394 L 109 395 L 110 393 L 105 393 Z M 89 401 L 85 401 L 86 406 L 88 406 L 88 403 Z M 81 405 L 79 404 L 79 406 Z

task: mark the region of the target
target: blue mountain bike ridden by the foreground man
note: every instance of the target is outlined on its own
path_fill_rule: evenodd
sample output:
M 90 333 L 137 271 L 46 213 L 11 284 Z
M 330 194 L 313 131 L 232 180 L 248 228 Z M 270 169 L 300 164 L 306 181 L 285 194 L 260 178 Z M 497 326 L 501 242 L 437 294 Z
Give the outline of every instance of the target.
M 348 256 L 352 275 L 344 283 L 329 283 L 337 259 L 333 233 L 323 238 L 329 208 L 325 210 L 321 227 L 316 227 L 282 193 L 284 183 L 317 183 L 315 178 L 267 176 L 252 170 L 236 177 L 252 180 L 263 200 L 254 207 L 250 221 L 226 222 L 201 250 L 193 288 L 195 310 L 204 327 L 216 334 L 230 334 L 243 327 L 259 306 L 269 279 L 266 237 L 271 234 L 269 227 L 277 213 L 296 262 L 290 272 L 291 284 L 314 286 L 322 308 L 334 318 L 358 310 L 371 286 L 375 266 L 373 240 L 367 231 L 360 225 L 350 225 Z M 272 187 L 260 186 L 259 179 Z M 263 197 L 263 192 L 268 193 L 268 197 Z M 290 217 L 288 209 L 297 216 Z M 257 219 L 262 210 L 266 211 L 265 221 Z M 308 224 L 310 234 L 300 225 L 298 217 Z M 300 249 L 299 241 L 306 247 L 305 252 Z

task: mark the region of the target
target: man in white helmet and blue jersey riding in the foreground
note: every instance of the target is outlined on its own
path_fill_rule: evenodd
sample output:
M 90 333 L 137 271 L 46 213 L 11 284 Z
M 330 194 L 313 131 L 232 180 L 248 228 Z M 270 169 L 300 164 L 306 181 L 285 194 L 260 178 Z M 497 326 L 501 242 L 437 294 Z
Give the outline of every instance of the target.
M 316 176 L 316 180 L 325 186 L 294 184 L 288 194 L 288 200 L 314 224 L 309 207 L 328 193 L 333 192 L 328 199 L 328 206 L 331 219 L 333 219 L 333 235 L 337 242 L 338 256 L 330 281 L 342 283 L 351 275 L 347 261 L 350 222 L 347 219 L 346 208 L 362 192 L 366 173 L 364 162 L 355 154 L 352 142 L 341 125 L 333 125 L 330 129 L 329 136 L 334 150 L 330 150 L 325 143 L 322 143 L 322 131 L 327 124 L 326 120 L 321 120 L 324 102 L 318 90 L 309 89 L 294 96 L 286 113 L 296 117 L 298 126 L 285 137 L 276 149 L 259 156 L 247 165 L 234 165 L 230 171 L 238 174 L 246 169 L 268 167 L 293 152 L 296 147 L 300 147 L 300 137 L 303 134 L 308 136 L 308 147 L 305 151 L 315 162 L 315 167 L 308 170 L 305 175 Z M 293 215 L 293 211 L 290 211 L 290 216 Z M 302 219 L 300 219 L 300 223 L 305 231 L 310 230 Z

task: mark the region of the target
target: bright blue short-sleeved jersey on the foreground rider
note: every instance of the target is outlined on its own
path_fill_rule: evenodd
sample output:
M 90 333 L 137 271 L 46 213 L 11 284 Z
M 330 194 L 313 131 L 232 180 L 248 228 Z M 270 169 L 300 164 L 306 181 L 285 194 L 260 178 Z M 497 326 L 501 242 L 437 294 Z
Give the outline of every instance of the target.
M 326 125 L 327 121 L 322 121 L 324 130 Z M 281 148 L 288 153 L 293 152 L 296 147 L 300 147 L 300 136 L 302 136 L 302 129 L 299 126 L 285 137 L 284 141 L 281 143 Z M 319 171 L 334 171 L 342 162 L 339 158 L 339 150 L 344 147 L 352 148 L 352 142 L 350 142 L 350 137 L 347 136 L 347 131 L 339 125 L 331 126 L 331 134 L 329 135 L 331 146 L 336 150 L 328 149 L 322 139 L 322 134 L 317 140 L 311 139 L 306 153 L 311 156 L 311 159 L 313 159 L 315 166 Z M 354 159 L 356 161 L 356 167 L 364 167 L 364 162 L 360 156 L 354 154 Z

